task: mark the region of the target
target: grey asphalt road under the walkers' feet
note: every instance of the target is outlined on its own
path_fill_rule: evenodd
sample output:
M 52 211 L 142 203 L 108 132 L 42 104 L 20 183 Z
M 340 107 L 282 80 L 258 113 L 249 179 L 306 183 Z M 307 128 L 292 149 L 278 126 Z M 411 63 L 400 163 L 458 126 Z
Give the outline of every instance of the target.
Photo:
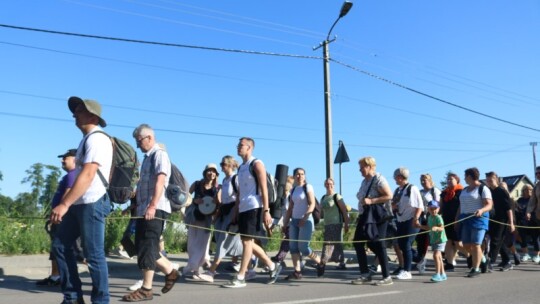
M 352 253 L 348 253 L 352 255 Z M 47 257 L 0 257 L 0 302 L 1 303 L 60 303 L 58 287 L 37 288 L 35 280 L 47 275 Z M 185 255 L 175 255 L 173 261 L 185 264 Z M 36 262 L 36 260 L 39 261 Z M 164 277 L 156 275 L 154 299 L 151 303 L 539 303 L 540 265 L 524 263 L 508 272 L 496 271 L 479 278 L 465 278 L 464 261 L 456 271 L 448 274 L 448 281 L 431 283 L 433 266 L 428 262 L 428 272 L 418 275 L 413 272 L 409 281 L 394 281 L 392 286 L 356 286 L 350 280 L 357 276 L 358 268 L 349 264 L 347 270 L 333 270 L 328 265 L 324 277 L 317 278 L 313 268 L 306 268 L 302 281 L 284 280 L 290 273 L 291 262 L 274 285 L 266 285 L 268 274 L 260 273 L 247 287 L 239 289 L 221 288 L 232 273 L 223 271 L 214 283 L 201 283 L 182 277 L 167 294 L 160 289 Z M 225 264 L 225 263 L 224 263 Z M 139 278 L 134 261 L 109 258 L 111 303 L 120 302 L 128 291 L 126 288 Z M 261 269 L 258 269 L 261 270 Z M 81 267 L 85 301 L 90 303 L 90 278 Z M 150 303 L 150 302 L 147 302 Z

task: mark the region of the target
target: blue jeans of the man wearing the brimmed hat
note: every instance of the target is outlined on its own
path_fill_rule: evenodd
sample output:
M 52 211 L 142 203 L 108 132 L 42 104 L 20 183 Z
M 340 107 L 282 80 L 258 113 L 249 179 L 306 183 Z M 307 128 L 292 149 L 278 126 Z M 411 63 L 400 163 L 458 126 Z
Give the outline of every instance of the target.
M 73 244 L 80 236 L 83 253 L 92 278 L 92 303 L 109 303 L 109 271 L 105 259 L 105 218 L 111 212 L 109 197 L 104 195 L 93 204 L 72 205 L 59 224 L 53 240 L 64 302 L 82 298 L 81 279 Z

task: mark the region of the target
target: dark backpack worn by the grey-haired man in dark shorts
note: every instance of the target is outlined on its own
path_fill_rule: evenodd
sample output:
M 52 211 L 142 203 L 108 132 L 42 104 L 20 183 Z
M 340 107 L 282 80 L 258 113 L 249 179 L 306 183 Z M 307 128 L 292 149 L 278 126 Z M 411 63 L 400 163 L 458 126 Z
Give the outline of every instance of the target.
M 155 167 L 156 153 L 152 153 L 152 170 Z M 171 211 L 178 212 L 182 207 L 191 204 L 191 193 L 189 193 L 189 182 L 182 174 L 182 171 L 171 162 L 171 176 L 169 186 L 165 189 L 165 196 L 171 204 Z

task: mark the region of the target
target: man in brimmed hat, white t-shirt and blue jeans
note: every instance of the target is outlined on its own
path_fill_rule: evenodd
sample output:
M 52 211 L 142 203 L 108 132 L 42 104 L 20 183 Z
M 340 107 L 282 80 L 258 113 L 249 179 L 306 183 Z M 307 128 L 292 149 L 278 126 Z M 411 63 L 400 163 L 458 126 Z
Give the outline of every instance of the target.
M 92 303 L 109 303 L 108 268 L 105 259 L 105 217 L 111 211 L 103 177 L 110 176 L 113 147 L 101 127 L 101 105 L 94 100 L 70 97 L 68 106 L 83 133 L 76 154 L 78 174 L 69 191 L 51 211 L 51 222 L 59 224 L 53 240 L 64 300 L 84 303 L 77 261 L 71 248 L 81 237 L 92 278 Z

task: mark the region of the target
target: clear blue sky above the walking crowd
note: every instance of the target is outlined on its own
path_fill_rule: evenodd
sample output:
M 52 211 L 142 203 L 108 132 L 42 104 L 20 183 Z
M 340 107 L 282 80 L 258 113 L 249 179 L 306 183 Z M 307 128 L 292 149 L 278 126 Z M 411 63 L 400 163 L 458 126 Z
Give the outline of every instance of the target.
M 390 180 L 451 170 L 532 176 L 540 128 L 537 1 L 353 1 L 332 36 L 333 153 L 345 143 L 343 195 L 356 205 L 357 161 L 372 155 Z M 148 123 L 190 181 L 236 155 L 304 167 L 322 195 L 325 178 L 322 51 L 314 51 L 342 1 L 2 1 L 0 24 L 267 56 L 53 35 L 0 27 L 0 182 L 21 184 L 33 163 L 59 165 L 81 133 L 72 95 L 96 99 L 110 134 L 133 142 Z M 317 57 L 317 58 L 311 58 Z M 343 64 L 340 64 L 343 63 Z M 346 66 L 348 65 L 348 66 Z M 369 74 L 368 74 L 369 73 Z M 384 81 L 388 80 L 388 81 Z M 406 88 L 433 96 L 429 98 Z M 507 120 L 503 123 L 450 106 Z M 531 130 L 533 129 L 533 130 Z M 334 176 L 339 181 L 338 166 Z

